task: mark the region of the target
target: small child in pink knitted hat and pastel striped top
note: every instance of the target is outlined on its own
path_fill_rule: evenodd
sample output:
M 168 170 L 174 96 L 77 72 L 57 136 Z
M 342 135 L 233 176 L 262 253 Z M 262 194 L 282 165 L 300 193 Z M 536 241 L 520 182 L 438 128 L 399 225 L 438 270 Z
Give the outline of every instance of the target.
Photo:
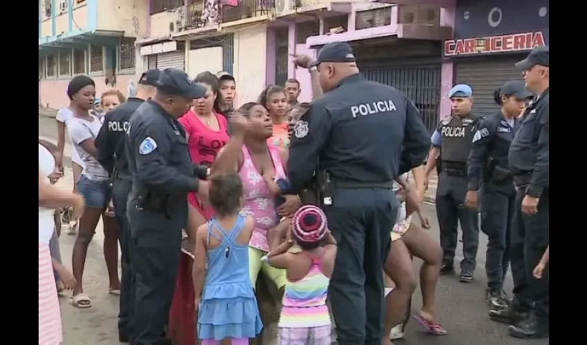
M 326 215 L 316 206 L 302 206 L 291 219 L 291 238 L 264 257 L 271 266 L 287 270 L 277 344 L 328 345 L 331 322 L 326 297 L 336 241 Z M 294 241 L 300 246 L 298 253 L 288 252 Z

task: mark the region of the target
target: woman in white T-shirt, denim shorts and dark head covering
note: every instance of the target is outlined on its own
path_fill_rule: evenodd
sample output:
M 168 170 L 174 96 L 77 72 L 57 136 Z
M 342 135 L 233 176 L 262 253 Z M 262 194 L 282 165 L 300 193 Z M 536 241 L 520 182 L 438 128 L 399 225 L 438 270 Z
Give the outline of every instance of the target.
M 84 293 L 82 276 L 88 246 L 100 217 L 104 224 L 104 259 L 106 259 L 110 280 L 109 293 L 120 294 L 118 229 L 114 217 L 106 215 L 112 193 L 110 178 L 108 172 L 95 158 L 97 152 L 94 141 L 102 128 L 102 121 L 90 114 L 96 95 L 95 83 L 90 77 L 84 75 L 74 77 L 69 83 L 67 93 L 74 115 L 68 122 L 68 132 L 75 150 L 85 164 L 77 181 L 77 191 L 86 199 L 86 209 L 79 219 L 79 233 L 73 246 L 73 275 L 77 284 L 73 290 L 73 296 L 70 297 L 70 304 L 77 308 L 89 308 L 92 304 L 88 295 Z

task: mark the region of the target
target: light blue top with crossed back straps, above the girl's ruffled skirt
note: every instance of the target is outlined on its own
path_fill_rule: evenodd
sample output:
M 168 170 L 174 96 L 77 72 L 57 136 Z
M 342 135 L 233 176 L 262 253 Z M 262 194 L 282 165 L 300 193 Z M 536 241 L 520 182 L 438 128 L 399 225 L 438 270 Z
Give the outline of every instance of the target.
M 212 227 L 222 236 L 212 233 Z M 233 228 L 224 230 L 218 221 L 212 217 L 208 221 L 208 236 L 206 244 L 210 244 L 210 237 L 220 241 L 220 246 L 208 250 L 208 269 L 202 291 L 202 300 L 215 298 L 252 297 L 253 286 L 249 278 L 249 250 L 246 245 L 236 242 L 238 235 L 244 228 L 244 217 L 239 215 Z

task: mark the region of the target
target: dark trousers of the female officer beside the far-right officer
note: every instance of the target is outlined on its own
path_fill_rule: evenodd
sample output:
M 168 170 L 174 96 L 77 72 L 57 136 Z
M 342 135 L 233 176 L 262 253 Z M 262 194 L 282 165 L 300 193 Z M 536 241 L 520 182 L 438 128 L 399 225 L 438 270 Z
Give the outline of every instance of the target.
M 490 291 L 499 292 L 510 266 L 510 237 L 516 193 L 513 181 L 483 182 L 481 186 L 481 231 L 488 237 L 485 272 Z

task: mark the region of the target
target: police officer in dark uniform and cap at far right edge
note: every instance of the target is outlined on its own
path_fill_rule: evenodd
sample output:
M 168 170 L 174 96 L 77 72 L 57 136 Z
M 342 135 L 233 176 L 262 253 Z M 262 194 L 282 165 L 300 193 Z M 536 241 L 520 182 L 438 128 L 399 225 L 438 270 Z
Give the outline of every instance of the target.
M 549 244 L 549 57 L 549 48 L 539 47 L 516 63 L 524 70 L 526 87 L 538 96 L 523 113 L 508 157 L 517 188 L 510 244 L 514 298 L 509 308 L 489 314 L 511 324 L 514 337 L 548 337 L 550 330 L 548 264 L 541 279 L 532 275 Z

